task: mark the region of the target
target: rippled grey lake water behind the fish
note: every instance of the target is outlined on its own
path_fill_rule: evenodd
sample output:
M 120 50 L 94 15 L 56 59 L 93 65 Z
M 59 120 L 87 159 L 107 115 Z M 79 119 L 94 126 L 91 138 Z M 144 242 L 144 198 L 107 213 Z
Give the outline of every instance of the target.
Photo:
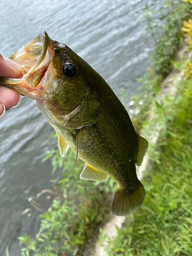
M 141 19 L 146 3 L 160 7 L 159 1 L 147 0 L 1 0 L 1 53 L 11 55 L 46 30 L 88 61 L 118 96 L 121 87 L 135 91 L 153 45 Z M 17 237 L 38 230 L 39 212 L 32 208 L 29 217 L 22 212 L 30 207 L 27 198 L 53 188 L 49 180 L 60 176 L 51 174 L 50 161 L 41 163 L 56 143 L 52 134 L 35 101 L 27 97 L 0 119 L 0 255 L 7 246 L 20 255 Z M 48 208 L 51 200 L 44 197 L 39 203 Z

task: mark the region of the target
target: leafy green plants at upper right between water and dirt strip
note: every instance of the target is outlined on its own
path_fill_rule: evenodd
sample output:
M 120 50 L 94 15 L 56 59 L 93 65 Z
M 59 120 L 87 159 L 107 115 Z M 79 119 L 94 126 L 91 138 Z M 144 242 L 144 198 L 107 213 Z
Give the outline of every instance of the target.
M 188 0 L 186 2 L 164 1 L 162 8 L 158 10 L 159 20 L 163 20 L 164 25 L 154 25 L 153 16 L 157 15 L 157 12 L 151 12 L 147 6 L 145 8 L 144 18 L 148 23 L 147 30 L 154 37 L 155 44 L 149 56 L 152 64 L 147 68 L 146 74 L 138 79 L 141 87 L 137 89 L 137 93 L 128 95 L 122 89 L 121 97 L 137 131 L 146 122 L 151 105 L 156 101 L 155 96 L 161 91 L 164 78 L 175 68 L 176 63 L 179 67 L 181 65 L 176 61 L 176 56 L 184 40 L 184 31 L 181 30 L 183 21 L 190 17 L 191 8 L 192 5 Z M 158 26 L 157 32 L 154 26 Z M 131 109 L 130 101 L 134 102 Z

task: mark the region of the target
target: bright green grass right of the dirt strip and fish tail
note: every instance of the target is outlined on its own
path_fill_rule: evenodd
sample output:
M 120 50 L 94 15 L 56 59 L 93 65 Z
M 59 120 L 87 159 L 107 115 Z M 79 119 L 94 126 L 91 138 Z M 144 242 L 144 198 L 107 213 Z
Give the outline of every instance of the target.
M 143 180 L 144 204 L 109 239 L 110 256 L 192 255 L 192 81 L 176 98 L 159 162 Z

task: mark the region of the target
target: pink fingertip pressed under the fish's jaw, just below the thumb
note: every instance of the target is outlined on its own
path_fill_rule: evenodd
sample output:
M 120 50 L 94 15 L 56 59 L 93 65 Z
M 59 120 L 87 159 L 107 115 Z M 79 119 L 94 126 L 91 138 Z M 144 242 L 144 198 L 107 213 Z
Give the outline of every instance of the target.
M 13 108 L 20 102 L 20 94 L 0 85 L 0 102 L 5 105 L 6 110 Z

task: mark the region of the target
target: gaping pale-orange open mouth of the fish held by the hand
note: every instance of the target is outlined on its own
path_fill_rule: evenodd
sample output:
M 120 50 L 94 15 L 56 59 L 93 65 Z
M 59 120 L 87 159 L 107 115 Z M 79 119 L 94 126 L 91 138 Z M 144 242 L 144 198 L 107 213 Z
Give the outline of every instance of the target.
M 0 77 L 0 82 L 20 94 L 43 100 L 41 95 L 46 92 L 46 87 L 41 81 L 53 55 L 52 40 L 46 31 L 42 31 L 40 35 L 9 57 L 20 65 L 22 76 L 19 78 Z

